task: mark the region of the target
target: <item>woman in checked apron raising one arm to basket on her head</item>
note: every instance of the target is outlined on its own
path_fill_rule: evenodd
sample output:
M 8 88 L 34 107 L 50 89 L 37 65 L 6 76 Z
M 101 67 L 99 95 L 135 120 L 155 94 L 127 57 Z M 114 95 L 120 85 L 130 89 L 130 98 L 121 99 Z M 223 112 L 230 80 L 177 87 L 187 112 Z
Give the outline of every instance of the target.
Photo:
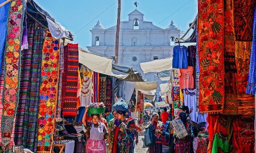
M 100 114 L 92 114 L 91 121 L 86 121 L 87 112 L 88 107 L 85 108 L 84 117 L 82 118 L 82 123 L 86 127 L 86 153 L 105 153 L 105 138 L 110 143 L 108 129 L 104 123 L 100 122 Z

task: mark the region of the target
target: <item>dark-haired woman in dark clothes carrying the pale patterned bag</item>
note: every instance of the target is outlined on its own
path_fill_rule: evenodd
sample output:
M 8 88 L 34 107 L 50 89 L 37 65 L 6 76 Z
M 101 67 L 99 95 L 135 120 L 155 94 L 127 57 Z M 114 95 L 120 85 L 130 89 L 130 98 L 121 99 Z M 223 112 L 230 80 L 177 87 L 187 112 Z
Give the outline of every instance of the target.
M 191 122 L 187 106 L 183 105 L 180 107 L 179 117 L 175 118 L 175 120 L 178 119 L 183 122 L 188 135 L 183 139 L 175 137 L 175 153 L 193 153 L 193 137 L 191 137 Z

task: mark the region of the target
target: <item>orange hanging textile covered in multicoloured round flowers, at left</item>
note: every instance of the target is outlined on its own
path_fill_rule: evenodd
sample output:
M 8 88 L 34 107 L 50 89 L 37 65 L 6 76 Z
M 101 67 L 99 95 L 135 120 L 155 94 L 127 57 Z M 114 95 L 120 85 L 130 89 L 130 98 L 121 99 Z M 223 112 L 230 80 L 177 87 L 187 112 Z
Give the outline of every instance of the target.
M 55 128 L 55 111 L 57 104 L 57 83 L 59 82 L 60 42 L 46 37 L 42 52 L 42 84 L 40 86 L 40 103 L 38 116 L 38 152 L 50 152 Z

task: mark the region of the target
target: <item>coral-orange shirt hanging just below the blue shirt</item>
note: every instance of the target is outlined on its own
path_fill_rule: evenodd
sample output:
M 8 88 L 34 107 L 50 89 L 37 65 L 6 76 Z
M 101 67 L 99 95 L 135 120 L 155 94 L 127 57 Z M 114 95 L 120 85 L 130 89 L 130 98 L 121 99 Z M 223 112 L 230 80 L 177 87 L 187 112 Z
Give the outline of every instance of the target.
M 188 66 L 188 69 L 180 69 L 179 82 L 181 89 L 194 87 L 192 66 Z

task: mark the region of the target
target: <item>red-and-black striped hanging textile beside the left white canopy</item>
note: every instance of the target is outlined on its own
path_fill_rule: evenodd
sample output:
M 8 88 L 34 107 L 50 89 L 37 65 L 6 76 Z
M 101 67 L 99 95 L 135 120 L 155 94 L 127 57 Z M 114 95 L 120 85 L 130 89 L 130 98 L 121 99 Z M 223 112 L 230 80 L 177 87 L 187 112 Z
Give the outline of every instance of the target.
M 67 71 L 65 74 L 67 79 L 63 99 L 63 116 L 76 116 L 77 114 L 78 53 L 78 44 L 67 44 L 64 47 L 64 56 L 65 54 L 67 55 L 67 61 L 64 61 L 64 67 L 65 63 L 67 63 Z

